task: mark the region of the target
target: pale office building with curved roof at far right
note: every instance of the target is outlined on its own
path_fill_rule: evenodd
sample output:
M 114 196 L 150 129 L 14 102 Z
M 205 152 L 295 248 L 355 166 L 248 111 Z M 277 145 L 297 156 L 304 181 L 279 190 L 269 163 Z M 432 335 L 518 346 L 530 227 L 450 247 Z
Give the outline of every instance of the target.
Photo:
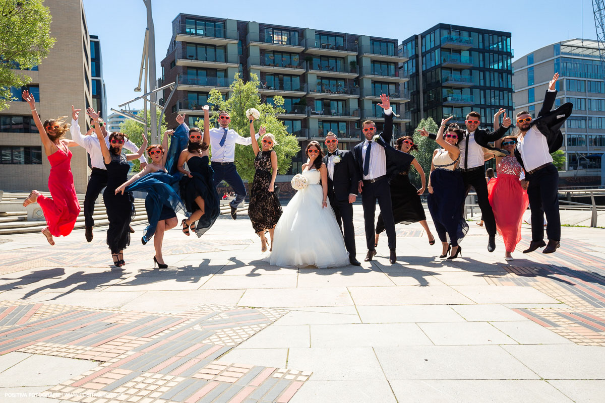
M 559 73 L 555 107 L 574 104 L 574 112 L 561 132 L 565 153 L 566 182 L 600 184 L 601 155 L 605 153 L 604 71 L 595 40 L 571 39 L 557 42 L 512 63 L 515 69 L 515 113 L 540 111 L 548 83 Z

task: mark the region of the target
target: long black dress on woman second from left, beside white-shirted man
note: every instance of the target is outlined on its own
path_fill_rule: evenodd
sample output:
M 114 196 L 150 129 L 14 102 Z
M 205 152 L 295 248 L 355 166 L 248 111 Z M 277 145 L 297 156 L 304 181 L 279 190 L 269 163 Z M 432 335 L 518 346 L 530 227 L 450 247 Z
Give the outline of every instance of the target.
M 103 203 L 107 210 L 110 226 L 107 228 L 107 245 L 111 253 L 120 253 L 130 245 L 130 222 L 134 218 L 134 197 L 132 192 L 118 193 L 116 188 L 128 180 L 130 164 L 126 155 L 111 153 L 111 163 L 107 169 L 107 187 L 103 190 Z

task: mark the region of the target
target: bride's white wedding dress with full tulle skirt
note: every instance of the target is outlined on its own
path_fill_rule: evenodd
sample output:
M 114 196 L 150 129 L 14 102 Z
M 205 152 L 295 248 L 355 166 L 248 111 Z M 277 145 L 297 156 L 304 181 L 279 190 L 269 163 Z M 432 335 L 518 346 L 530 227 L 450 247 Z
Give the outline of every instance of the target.
M 322 208 L 324 193 L 318 170 L 302 175 L 309 184 L 296 192 L 275 226 L 273 251 L 265 259 L 276 266 L 346 266 L 348 252 L 330 201 Z

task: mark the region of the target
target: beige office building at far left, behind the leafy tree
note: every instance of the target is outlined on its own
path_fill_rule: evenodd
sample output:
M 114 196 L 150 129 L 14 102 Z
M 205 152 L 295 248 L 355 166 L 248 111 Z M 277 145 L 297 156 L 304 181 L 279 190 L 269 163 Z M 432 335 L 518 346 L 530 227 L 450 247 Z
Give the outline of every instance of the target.
M 31 71 L 25 88 L 13 88 L 17 99 L 0 111 L 0 189 L 48 190 L 50 164 L 22 89 L 36 97 L 36 109 L 42 121 L 67 116 L 71 105 L 85 109 L 93 105 L 91 94 L 90 40 L 82 0 L 46 0 L 53 21 L 50 35 L 56 38 L 48 57 Z M 83 114 L 82 114 L 83 115 Z M 80 115 L 80 127 L 86 129 Z M 68 138 L 70 135 L 67 136 Z M 83 193 L 88 181 L 88 156 L 82 147 L 72 147 L 71 172 L 76 191 Z

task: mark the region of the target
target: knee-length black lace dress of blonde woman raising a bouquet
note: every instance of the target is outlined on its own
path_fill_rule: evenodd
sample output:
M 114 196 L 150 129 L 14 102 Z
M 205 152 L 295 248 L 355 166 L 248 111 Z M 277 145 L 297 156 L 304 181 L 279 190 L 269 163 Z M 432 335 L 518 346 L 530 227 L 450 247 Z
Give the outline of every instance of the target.
M 255 232 L 269 230 L 281 217 L 281 205 L 275 192 L 269 192 L 271 183 L 271 151 L 260 151 L 254 159 L 254 180 L 250 189 L 248 215 Z

